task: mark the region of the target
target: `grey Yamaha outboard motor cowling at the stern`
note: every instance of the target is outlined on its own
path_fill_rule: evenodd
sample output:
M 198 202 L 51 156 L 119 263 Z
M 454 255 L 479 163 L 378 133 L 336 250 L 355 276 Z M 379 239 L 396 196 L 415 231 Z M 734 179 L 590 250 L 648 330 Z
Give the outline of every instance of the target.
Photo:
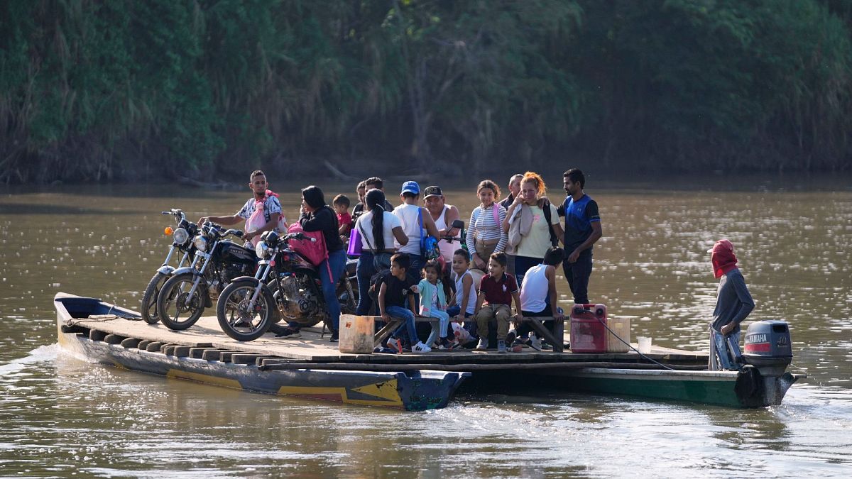
M 746 330 L 743 354 L 748 364 L 756 366 L 763 376 L 780 376 L 793 359 L 790 328 L 785 321 L 755 321 Z

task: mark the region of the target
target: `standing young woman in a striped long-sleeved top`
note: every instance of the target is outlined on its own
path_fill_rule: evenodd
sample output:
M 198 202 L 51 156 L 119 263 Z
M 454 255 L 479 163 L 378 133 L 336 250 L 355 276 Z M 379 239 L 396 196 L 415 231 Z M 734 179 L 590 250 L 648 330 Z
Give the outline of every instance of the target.
M 492 253 L 504 251 L 507 235 L 503 230 L 506 209 L 495 203 L 500 198 L 500 188 L 491 180 L 483 180 L 476 187 L 481 205 L 470 214 L 467 242 L 471 267 L 487 270 Z

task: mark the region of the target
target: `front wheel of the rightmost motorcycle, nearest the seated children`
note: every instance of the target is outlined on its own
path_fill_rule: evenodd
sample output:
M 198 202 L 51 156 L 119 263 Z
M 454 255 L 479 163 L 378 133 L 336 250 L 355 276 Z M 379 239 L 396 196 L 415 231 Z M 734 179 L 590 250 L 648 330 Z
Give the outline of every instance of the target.
M 273 321 L 274 303 L 268 293 L 261 291 L 255 303 L 249 307 L 251 297 L 257 289 L 255 281 L 235 281 L 222 291 L 216 304 L 216 319 L 219 326 L 237 341 L 253 341 L 269 330 Z

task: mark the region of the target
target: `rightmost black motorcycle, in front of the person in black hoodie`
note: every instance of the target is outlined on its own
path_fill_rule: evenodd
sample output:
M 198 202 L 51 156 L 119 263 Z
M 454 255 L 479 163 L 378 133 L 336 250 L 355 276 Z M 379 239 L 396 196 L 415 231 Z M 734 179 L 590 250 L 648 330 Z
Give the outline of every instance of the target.
M 291 240 L 307 239 L 301 233 L 261 236 L 255 246 L 260 258 L 257 273 L 231 281 L 216 305 L 223 332 L 238 341 L 252 341 L 282 319 L 313 326 L 328 318 L 319 271 L 289 247 Z M 343 274 L 337 286 L 343 313 L 351 314 L 357 305 L 353 283 L 357 284 L 354 269 Z

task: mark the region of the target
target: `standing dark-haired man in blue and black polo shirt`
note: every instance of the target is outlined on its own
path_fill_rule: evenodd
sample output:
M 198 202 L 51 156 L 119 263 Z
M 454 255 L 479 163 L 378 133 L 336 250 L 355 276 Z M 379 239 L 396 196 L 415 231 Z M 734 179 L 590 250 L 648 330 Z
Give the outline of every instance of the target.
M 562 173 L 562 183 L 567 197 L 559 207 L 559 216 L 565 216 L 565 261 L 562 271 L 574 295 L 574 303 L 589 303 L 589 277 L 591 276 L 592 245 L 601 238 L 601 216 L 597 203 L 583 192 L 585 176 L 572 168 Z

